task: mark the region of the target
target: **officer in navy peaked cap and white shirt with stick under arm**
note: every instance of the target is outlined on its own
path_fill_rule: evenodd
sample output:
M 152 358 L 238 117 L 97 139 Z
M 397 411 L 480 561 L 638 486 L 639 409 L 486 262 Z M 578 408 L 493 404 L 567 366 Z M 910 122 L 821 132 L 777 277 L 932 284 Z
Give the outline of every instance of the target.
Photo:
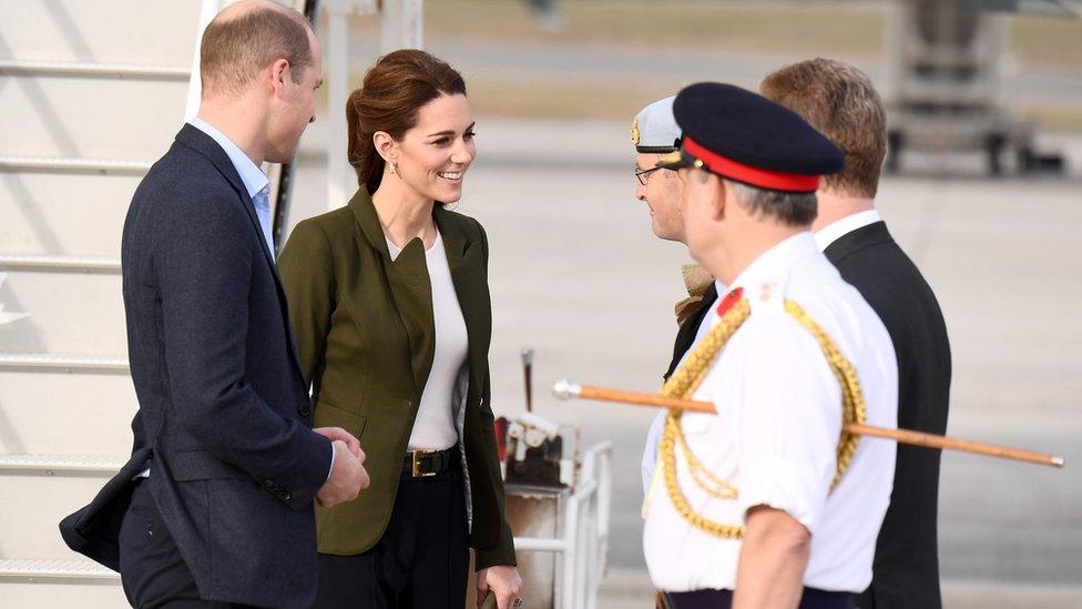
M 765 98 L 684 89 L 684 136 L 660 166 L 684 182 L 687 245 L 727 293 L 664 394 L 671 413 L 644 505 L 646 565 L 675 609 L 851 608 L 871 580 L 895 447 L 843 434 L 894 425 L 882 322 L 816 247 L 819 176 L 841 152 Z

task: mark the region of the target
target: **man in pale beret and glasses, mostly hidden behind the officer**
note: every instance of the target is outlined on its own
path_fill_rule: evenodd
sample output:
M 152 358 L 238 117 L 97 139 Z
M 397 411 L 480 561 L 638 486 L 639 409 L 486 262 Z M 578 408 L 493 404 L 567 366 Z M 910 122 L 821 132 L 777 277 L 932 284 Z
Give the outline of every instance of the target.
M 635 199 L 646 203 L 654 235 L 686 245 L 684 216 L 680 211 L 683 182 L 676 176 L 676 172 L 655 166 L 663 155 L 673 153 L 680 144 L 681 131 L 676 125 L 676 118 L 673 116 L 675 99 L 676 95 L 670 95 L 643 108 L 631 123 L 631 142 L 635 145 Z M 710 273 L 698 265 L 684 266 L 688 297 L 676 303 L 676 323 L 680 329 L 673 345 L 672 362 L 663 375 L 666 379 L 710 325 L 713 309 L 711 305 L 717 301 L 717 286 L 712 280 Z M 661 413 L 654 418 L 646 435 L 642 458 L 643 491 L 649 487 L 654 464 L 657 461 L 657 440 L 664 423 L 665 414 Z

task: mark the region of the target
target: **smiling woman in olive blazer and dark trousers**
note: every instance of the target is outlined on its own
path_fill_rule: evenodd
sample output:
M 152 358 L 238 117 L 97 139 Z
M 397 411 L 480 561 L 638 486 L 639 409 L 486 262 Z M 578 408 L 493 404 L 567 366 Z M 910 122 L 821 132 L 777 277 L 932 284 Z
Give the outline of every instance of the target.
M 432 80 L 428 89 L 418 84 L 421 77 Z M 401 98 L 398 112 L 366 114 L 374 105 L 386 108 L 386 99 L 376 102 L 391 94 Z M 468 580 L 459 559 L 468 560 L 467 542 L 474 550 L 479 593 L 491 588 L 502 597 L 500 607 L 510 606 L 521 580 L 513 569 L 489 405 L 488 242 L 476 220 L 437 202 L 457 200 L 456 192 L 460 196 L 462 173 L 473 156 L 465 84 L 457 72 L 428 53 L 397 51 L 369 70 L 364 87 L 350 95 L 347 118 L 350 160 L 363 185 L 347 206 L 300 222 L 278 261 L 289 318 L 312 383 L 315 425 L 355 434 L 371 479 L 355 501 L 316 510 L 320 552 L 316 607 L 459 609 Z M 446 132 L 442 140 L 431 142 L 427 132 L 420 132 L 430 126 Z M 430 199 L 418 199 L 418 193 Z M 442 197 L 431 199 L 433 194 Z M 418 200 L 428 204 L 419 212 L 410 207 Z M 402 217 L 414 221 L 405 236 L 401 231 L 409 223 Z M 410 498 L 414 491 L 406 489 L 428 487 L 418 486 L 427 481 L 418 481 L 417 470 L 411 474 L 410 463 L 404 464 L 436 352 L 435 284 L 427 255 L 437 238 L 442 242 L 468 337 L 465 364 L 448 400 L 458 436 L 453 460 L 460 461 L 450 465 L 461 473 L 455 478 L 461 480 L 455 483 L 458 495 L 449 501 L 465 504 L 461 540 L 453 532 L 456 522 L 451 522 L 450 540 L 439 539 L 443 529 L 425 532 L 429 520 L 446 512 L 445 506 L 410 505 L 430 499 Z M 396 241 L 405 242 L 397 257 L 391 252 L 392 245 L 398 250 Z M 394 536 L 396 548 L 380 545 L 386 536 Z M 402 549 L 416 536 L 429 538 L 416 541 L 421 544 L 416 552 Z M 450 546 L 445 548 L 446 544 Z M 409 557 L 404 561 L 404 554 L 417 552 L 453 556 L 443 566 L 439 561 L 414 565 Z M 388 558 L 390 554 L 395 556 Z M 448 571 L 453 580 L 459 569 L 460 588 L 457 581 L 431 581 L 447 578 Z M 440 598 L 433 600 L 431 595 Z

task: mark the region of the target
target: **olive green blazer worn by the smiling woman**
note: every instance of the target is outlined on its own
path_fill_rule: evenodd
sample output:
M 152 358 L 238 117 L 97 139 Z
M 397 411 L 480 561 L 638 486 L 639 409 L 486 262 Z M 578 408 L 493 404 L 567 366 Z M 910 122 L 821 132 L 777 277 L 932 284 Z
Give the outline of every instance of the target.
M 492 311 L 488 241 L 473 219 L 436 206 L 469 337 L 459 447 L 477 568 L 514 565 L 489 405 Z M 387 528 L 406 444 L 432 366 L 435 322 L 425 246 L 414 238 L 395 261 L 361 187 L 339 210 L 297 224 L 278 258 L 316 427 L 360 438 L 371 486 L 348 504 L 316 508 L 319 551 L 357 555 Z

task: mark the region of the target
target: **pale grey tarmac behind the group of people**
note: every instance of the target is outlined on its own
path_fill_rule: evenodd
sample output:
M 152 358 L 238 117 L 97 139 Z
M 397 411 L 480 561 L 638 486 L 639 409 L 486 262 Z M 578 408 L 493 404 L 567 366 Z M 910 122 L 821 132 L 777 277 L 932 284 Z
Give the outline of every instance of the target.
M 318 126 L 306 150 L 321 138 Z M 687 256 L 650 234 L 645 207 L 632 197 L 622 122 L 481 116 L 478 131 L 479 159 L 457 209 L 478 217 L 491 242 L 493 406 L 521 409 L 518 354 L 533 346 L 540 414 L 578 425 L 586 444 L 614 443 L 614 570 L 602 598 L 604 607 L 645 607 L 639 455 L 653 413 L 560 404 L 544 388 L 571 377 L 655 390 Z M 922 175 L 888 177 L 881 187 L 884 216 L 947 316 L 950 433 L 1043 449 L 1070 464 L 1050 470 L 945 456 L 940 554 L 950 607 L 1082 599 L 1082 139 L 1048 142 L 1070 154 L 1072 175 L 948 177 L 927 163 Z M 308 169 L 294 220 L 325 200 L 318 154 L 302 162 Z

